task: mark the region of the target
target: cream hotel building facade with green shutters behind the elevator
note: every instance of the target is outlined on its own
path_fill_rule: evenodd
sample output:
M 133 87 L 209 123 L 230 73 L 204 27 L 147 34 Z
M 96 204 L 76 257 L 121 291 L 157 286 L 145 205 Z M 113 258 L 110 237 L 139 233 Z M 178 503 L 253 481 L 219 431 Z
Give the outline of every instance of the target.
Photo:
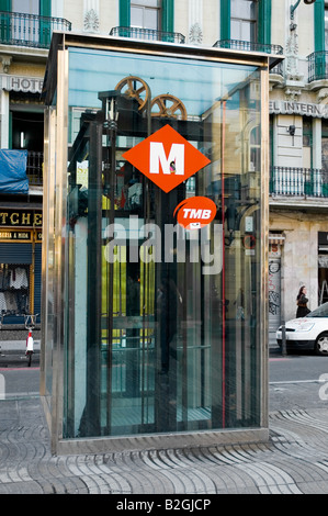
M 231 54 L 281 56 L 283 59 L 278 59 L 278 65 L 270 69 L 268 99 L 270 332 L 273 335 L 281 321 L 294 316 L 301 284 L 308 288 L 310 309 L 327 301 L 326 3 L 324 0 L 116 0 L 110 2 L 109 9 L 109 2 L 104 0 L 1 0 L 0 146 L 3 150 L 27 152 L 29 179 L 29 193 L 23 190 L 8 192 L 1 190 L 0 184 L 0 249 L 3 257 L 0 272 L 8 279 L 8 274 L 19 268 L 23 269 L 21 277 L 24 272 L 27 276 L 27 289 L 18 289 L 19 293 L 8 287 L 10 283 L 2 282 L 2 322 L 19 322 L 18 315 L 26 311 L 37 313 L 42 304 L 39 216 L 45 157 L 44 98 L 39 93 L 54 31 L 188 45 L 194 48 L 195 55 L 203 48 L 214 47 L 228 49 Z M 125 83 L 121 83 L 122 89 L 131 87 L 127 77 L 128 74 L 121 77 L 121 80 L 125 79 Z M 143 97 L 147 91 L 144 79 L 139 75 L 134 77 L 142 81 L 134 83 L 132 89 Z M 197 94 L 201 99 L 202 85 Z M 256 91 L 251 94 L 256 96 Z M 183 114 L 174 94 L 165 92 L 158 97 L 154 106 L 157 115 L 168 112 Z M 89 106 L 83 103 L 72 105 L 68 148 L 73 148 L 80 134 L 86 108 L 92 111 L 94 105 L 92 102 Z M 236 141 L 245 139 L 240 134 L 235 135 Z M 236 202 L 227 213 L 226 245 L 235 243 L 240 232 L 238 203 L 242 205 L 246 200 L 257 197 L 261 187 L 261 178 L 257 173 L 261 153 L 259 142 L 258 130 L 253 126 L 247 139 L 249 152 L 244 164 L 247 173 L 229 184 L 234 193 L 228 198 Z M 82 183 L 86 170 L 82 157 L 79 159 L 79 180 Z M 134 199 L 137 199 L 137 193 Z M 251 254 L 256 248 L 256 227 L 251 218 L 247 224 L 244 235 L 247 238 L 242 246 Z M 21 284 L 26 284 L 25 279 Z M 25 304 L 22 304 L 22 299 Z M 249 309 L 242 300 L 241 289 L 239 301 L 236 296 L 225 306 L 227 318 L 237 317 L 236 303 L 240 309 L 239 317 L 242 319 L 247 315 Z

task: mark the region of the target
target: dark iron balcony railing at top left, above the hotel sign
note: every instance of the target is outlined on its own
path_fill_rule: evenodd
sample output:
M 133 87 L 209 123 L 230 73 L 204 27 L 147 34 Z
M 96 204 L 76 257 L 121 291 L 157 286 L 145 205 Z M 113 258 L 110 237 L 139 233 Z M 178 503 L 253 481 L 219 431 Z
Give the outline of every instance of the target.
M 5 45 L 49 48 L 54 31 L 70 30 L 63 18 L 0 11 L 0 43 Z

